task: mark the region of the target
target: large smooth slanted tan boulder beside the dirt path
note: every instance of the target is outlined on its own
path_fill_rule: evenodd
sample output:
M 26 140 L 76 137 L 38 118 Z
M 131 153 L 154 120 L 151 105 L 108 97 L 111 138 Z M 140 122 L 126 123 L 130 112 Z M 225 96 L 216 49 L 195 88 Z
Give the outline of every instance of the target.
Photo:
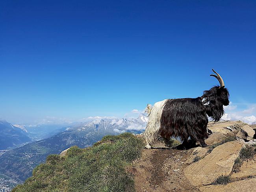
M 206 157 L 184 168 L 184 174 L 194 186 L 211 184 L 217 177 L 232 172 L 234 161 L 242 147 L 243 144 L 238 141 L 217 146 Z

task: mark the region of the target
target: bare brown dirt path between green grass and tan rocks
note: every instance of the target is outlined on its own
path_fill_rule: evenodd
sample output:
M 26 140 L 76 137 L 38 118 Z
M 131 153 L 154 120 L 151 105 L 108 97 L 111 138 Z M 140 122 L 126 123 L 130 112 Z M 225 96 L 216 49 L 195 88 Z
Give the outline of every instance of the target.
M 190 152 L 170 148 L 143 150 L 133 166 L 136 192 L 198 192 L 183 174 Z

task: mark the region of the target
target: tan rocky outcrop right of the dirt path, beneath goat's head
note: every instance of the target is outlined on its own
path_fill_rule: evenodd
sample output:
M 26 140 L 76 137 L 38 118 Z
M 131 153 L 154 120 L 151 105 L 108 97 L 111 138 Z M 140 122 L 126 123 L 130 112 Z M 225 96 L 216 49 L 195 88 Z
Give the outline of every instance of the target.
M 211 135 L 206 139 L 208 148 L 191 149 L 185 164 L 184 175 L 193 186 L 202 192 L 247 192 L 256 188 L 256 155 L 253 159 L 241 160 L 241 167 L 232 170 L 241 148 L 255 144 L 255 127 L 241 121 L 224 121 L 208 124 Z M 234 141 L 226 142 L 227 138 Z M 255 154 L 255 153 L 254 153 Z M 214 185 L 220 176 L 228 176 L 227 185 Z M 215 183 L 216 184 L 216 183 Z

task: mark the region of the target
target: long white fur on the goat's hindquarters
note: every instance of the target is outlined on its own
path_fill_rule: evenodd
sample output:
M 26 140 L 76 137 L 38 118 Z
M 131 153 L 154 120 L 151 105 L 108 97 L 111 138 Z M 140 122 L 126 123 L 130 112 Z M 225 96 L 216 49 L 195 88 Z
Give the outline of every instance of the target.
M 167 99 L 156 102 L 151 110 L 148 110 L 149 116 L 148 116 L 148 124 L 147 127 L 143 133 L 143 137 L 146 140 L 146 148 L 150 149 L 150 144 L 154 142 L 154 139 L 159 134 L 159 129 L 161 126 L 161 115 L 163 112 L 163 107 L 165 106 Z

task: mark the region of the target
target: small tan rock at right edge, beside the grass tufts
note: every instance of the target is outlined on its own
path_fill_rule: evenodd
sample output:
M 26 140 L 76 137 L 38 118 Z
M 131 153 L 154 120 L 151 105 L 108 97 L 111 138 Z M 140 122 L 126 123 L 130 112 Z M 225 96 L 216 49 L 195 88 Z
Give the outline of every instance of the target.
M 237 173 L 233 173 L 231 178 L 244 178 L 256 176 L 256 161 L 254 159 L 245 161 L 240 167 L 240 171 Z

